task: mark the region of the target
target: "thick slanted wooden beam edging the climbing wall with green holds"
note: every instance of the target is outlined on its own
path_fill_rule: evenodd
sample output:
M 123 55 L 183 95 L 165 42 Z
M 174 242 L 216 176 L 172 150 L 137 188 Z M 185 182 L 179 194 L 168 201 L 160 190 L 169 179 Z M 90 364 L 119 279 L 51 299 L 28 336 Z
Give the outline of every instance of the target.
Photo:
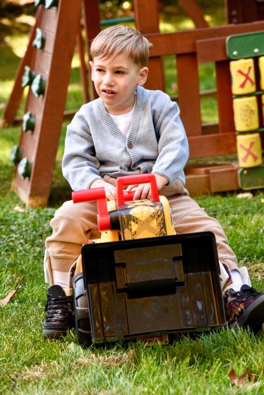
M 36 103 L 43 100 L 40 126 L 32 135 L 29 132 L 21 134 L 20 146 L 32 160 L 32 172 L 30 179 L 25 180 L 16 174 L 13 187 L 30 207 L 46 205 L 49 196 L 80 9 L 81 0 L 59 2 L 53 57 L 45 95 L 43 99 L 35 98 Z M 70 26 L 72 34 L 68 34 L 65 26 Z

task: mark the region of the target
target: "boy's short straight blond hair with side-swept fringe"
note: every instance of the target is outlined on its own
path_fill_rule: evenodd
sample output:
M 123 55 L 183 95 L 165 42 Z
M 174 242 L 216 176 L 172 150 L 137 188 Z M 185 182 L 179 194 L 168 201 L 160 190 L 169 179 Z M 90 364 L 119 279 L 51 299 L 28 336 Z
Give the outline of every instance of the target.
M 92 41 L 90 53 L 94 57 L 113 58 L 121 53 L 140 67 L 147 65 L 149 41 L 129 26 L 115 25 L 102 30 Z

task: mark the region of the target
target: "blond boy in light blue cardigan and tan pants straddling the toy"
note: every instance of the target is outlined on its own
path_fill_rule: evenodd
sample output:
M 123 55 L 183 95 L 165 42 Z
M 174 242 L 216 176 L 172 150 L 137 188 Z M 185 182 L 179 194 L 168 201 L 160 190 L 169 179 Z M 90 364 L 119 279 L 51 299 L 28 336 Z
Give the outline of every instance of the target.
M 99 98 L 83 105 L 67 129 L 62 171 L 73 190 L 104 187 L 116 199 L 115 179 L 154 173 L 161 195 L 172 207 L 176 233 L 213 231 L 230 325 L 259 329 L 264 295 L 251 288 L 247 269 L 237 259 L 224 231 L 189 197 L 183 168 L 189 155 L 179 108 L 158 90 L 146 90 L 149 42 L 128 26 L 111 26 L 91 45 L 92 80 Z M 134 199 L 150 197 L 149 184 L 130 185 Z M 47 295 L 43 336 L 60 337 L 73 326 L 69 271 L 89 239 L 100 237 L 94 202 L 65 202 L 51 220 L 46 240 Z M 68 280 L 69 279 L 69 280 Z M 245 310 L 245 311 L 244 311 Z

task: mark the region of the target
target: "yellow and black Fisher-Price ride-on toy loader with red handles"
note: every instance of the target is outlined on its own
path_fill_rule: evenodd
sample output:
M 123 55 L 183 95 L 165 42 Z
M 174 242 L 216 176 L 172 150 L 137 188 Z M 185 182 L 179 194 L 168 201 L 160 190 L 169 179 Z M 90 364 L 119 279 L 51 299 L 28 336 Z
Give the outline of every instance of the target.
M 151 200 L 134 201 L 134 192 L 123 190 L 144 182 L 151 183 Z M 97 202 L 102 235 L 82 247 L 72 280 L 80 344 L 164 342 L 175 333 L 225 324 L 215 236 L 176 235 L 153 174 L 119 177 L 117 203 L 106 201 L 104 188 L 72 197 L 74 203 Z

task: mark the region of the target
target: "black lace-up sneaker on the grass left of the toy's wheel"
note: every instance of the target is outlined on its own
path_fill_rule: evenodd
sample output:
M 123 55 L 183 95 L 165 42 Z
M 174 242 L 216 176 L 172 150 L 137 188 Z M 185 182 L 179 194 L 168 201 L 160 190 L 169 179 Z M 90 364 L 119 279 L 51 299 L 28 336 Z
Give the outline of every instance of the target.
M 61 286 L 49 287 L 45 311 L 47 314 L 42 330 L 43 337 L 58 339 L 74 327 L 72 296 L 66 296 Z

